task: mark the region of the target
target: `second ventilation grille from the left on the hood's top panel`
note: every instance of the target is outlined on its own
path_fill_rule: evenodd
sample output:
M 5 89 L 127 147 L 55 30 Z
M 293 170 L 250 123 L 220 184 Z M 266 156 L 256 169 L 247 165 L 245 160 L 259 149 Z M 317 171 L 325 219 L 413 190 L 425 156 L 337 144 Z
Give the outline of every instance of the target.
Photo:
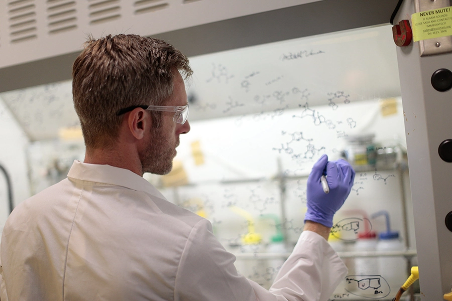
M 49 34 L 77 28 L 76 3 L 71 0 L 47 0 L 47 26 Z

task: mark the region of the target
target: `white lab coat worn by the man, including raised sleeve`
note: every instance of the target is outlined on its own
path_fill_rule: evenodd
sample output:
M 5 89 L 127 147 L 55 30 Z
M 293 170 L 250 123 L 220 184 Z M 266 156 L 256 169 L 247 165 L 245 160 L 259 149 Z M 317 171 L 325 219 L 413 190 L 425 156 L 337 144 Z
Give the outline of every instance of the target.
M 266 290 L 238 274 L 209 221 L 129 170 L 75 161 L 2 234 L 2 301 L 327 300 L 347 268 L 304 231 Z

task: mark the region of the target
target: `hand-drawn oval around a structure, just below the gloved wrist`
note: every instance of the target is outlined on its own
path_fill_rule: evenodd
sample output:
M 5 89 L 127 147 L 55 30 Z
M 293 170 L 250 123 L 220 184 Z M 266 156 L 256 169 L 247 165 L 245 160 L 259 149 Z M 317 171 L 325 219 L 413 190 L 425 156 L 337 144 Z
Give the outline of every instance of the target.
M 358 235 L 366 235 L 372 231 L 372 223 L 368 218 L 348 217 L 331 228 L 331 235 L 343 241 L 355 241 Z

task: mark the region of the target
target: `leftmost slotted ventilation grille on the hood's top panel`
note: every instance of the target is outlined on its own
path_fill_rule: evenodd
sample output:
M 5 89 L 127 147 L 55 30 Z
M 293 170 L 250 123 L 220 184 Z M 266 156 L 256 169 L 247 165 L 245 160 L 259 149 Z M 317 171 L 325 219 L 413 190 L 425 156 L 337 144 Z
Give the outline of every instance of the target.
M 11 43 L 37 38 L 35 0 L 8 1 L 8 21 Z

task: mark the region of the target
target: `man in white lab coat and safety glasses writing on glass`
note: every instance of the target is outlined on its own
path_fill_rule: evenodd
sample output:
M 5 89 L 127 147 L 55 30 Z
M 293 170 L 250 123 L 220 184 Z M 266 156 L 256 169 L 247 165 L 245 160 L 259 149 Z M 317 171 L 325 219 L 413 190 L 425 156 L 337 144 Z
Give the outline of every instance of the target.
M 187 133 L 187 58 L 135 35 L 91 40 L 73 66 L 86 144 L 67 179 L 22 202 L 2 234 L 5 300 L 326 300 L 346 274 L 327 243 L 354 171 L 322 156 L 305 228 L 270 290 L 238 274 L 210 223 L 168 202 L 143 173 L 171 170 Z M 322 189 L 326 171 L 329 193 Z

